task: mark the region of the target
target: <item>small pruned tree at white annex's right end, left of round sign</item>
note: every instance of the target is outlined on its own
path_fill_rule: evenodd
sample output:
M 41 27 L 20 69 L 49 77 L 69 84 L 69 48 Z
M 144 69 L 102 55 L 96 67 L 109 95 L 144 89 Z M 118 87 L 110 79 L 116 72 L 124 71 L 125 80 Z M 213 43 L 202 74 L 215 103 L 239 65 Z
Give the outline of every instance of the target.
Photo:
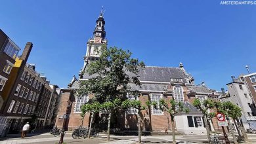
M 209 109 L 214 108 L 214 103 L 213 101 L 211 101 L 211 99 L 205 99 L 203 100 L 203 102 L 201 102 L 200 99 L 196 98 L 194 99 L 192 105 L 194 105 L 194 107 L 198 108 L 203 113 L 203 122 L 205 123 L 207 139 L 208 139 L 208 142 L 210 143 L 211 135 L 210 135 L 208 119 L 211 119 L 212 117 L 215 116 L 215 113 L 209 113 Z

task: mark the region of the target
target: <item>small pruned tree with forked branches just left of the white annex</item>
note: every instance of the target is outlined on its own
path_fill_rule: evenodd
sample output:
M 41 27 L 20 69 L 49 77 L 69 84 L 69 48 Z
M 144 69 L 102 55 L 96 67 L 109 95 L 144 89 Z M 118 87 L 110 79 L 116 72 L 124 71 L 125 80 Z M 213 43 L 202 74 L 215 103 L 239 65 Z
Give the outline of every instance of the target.
M 167 113 L 169 113 L 169 115 L 171 116 L 171 130 L 173 133 L 173 144 L 176 144 L 176 139 L 175 139 L 175 115 L 177 113 L 188 113 L 188 109 L 184 109 L 184 104 L 179 102 L 177 103 L 174 99 L 171 99 L 169 101 L 169 103 L 167 103 L 167 101 L 165 101 L 164 99 L 160 99 L 159 105 L 156 102 L 152 102 L 152 104 L 154 105 L 154 107 L 160 107 L 160 109 L 162 111 L 166 111 Z

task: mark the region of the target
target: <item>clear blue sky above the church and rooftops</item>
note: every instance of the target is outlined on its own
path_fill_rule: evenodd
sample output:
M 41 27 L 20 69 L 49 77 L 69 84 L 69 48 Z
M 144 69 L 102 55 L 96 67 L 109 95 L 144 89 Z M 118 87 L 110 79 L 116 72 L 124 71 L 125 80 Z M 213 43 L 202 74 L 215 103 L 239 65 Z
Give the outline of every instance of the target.
M 196 84 L 220 90 L 230 76 L 256 72 L 256 5 L 184 1 L 1 1 L 0 28 L 28 63 L 66 88 L 83 66 L 86 42 L 104 5 L 108 46 L 129 49 L 146 65 L 184 64 Z M 20 52 L 19 54 L 21 54 Z

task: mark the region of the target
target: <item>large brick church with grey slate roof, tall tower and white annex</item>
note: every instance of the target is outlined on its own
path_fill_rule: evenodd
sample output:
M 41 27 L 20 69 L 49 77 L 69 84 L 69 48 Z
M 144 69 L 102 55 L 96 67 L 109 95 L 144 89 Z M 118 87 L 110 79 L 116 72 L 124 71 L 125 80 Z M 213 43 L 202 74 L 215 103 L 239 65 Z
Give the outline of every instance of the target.
M 86 72 L 87 65 L 94 60 L 98 60 L 102 45 L 106 45 L 106 31 L 104 29 L 105 21 L 101 13 L 96 20 L 96 27 L 93 32 L 93 38 L 87 42 L 87 50 L 84 56 L 84 65 L 79 72 L 79 79 L 73 77 L 67 89 L 62 89 L 60 97 L 60 107 L 56 125 L 62 127 L 66 122 L 66 129 L 72 130 L 81 124 L 89 124 L 89 114 L 81 118 L 81 105 L 87 103 L 91 96 L 77 97 L 75 90 L 79 88 L 79 81 L 86 81 L 92 76 Z M 127 73 L 131 75 L 130 73 Z M 182 63 L 179 67 L 156 67 L 146 66 L 139 72 L 141 87 L 130 83 L 132 89 L 137 89 L 141 93 L 140 101 L 145 103 L 146 100 L 156 101 L 159 103 L 161 98 L 175 99 L 175 101 L 184 102 L 184 106 L 190 109 L 190 113 L 181 113 L 175 117 L 176 129 L 185 134 L 205 134 L 205 125 L 203 124 L 203 115 L 196 107 L 192 106 L 195 98 L 201 100 L 209 98 L 213 94 L 206 86 L 196 86 L 194 78 L 184 69 Z M 133 96 L 128 96 L 134 99 Z M 102 111 L 95 119 L 106 121 L 108 113 Z M 65 119 L 66 118 L 66 119 Z M 168 113 L 161 111 L 159 108 L 142 111 L 142 129 L 143 130 L 165 130 L 171 129 L 171 118 Z M 64 120 L 65 119 L 65 120 Z M 137 130 L 137 111 L 131 107 L 125 113 L 120 113 L 114 118 L 116 126 L 123 130 Z M 81 121 L 83 120 L 83 122 Z M 211 128 L 213 124 L 211 122 Z M 104 127 L 104 125 L 102 125 Z M 106 126 L 106 124 L 105 124 Z M 112 125 L 114 126 L 114 124 Z

